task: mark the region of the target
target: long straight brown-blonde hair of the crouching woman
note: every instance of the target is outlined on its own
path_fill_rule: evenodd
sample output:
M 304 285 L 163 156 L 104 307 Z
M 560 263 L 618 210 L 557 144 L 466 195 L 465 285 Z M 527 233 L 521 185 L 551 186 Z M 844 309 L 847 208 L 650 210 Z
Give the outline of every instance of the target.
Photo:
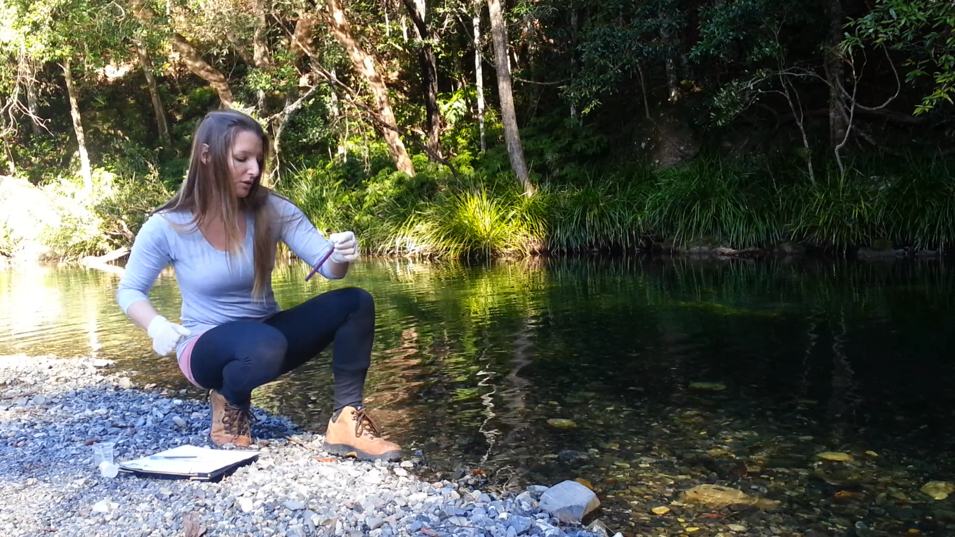
M 263 156 L 259 160 L 259 176 L 252 183 L 248 195 L 240 199 L 233 193 L 229 159 L 232 156 L 232 143 L 242 132 L 250 132 L 262 140 Z M 209 222 L 211 215 L 221 215 L 225 228 L 225 249 L 230 254 L 242 249 L 240 212 L 243 209 L 251 211 L 255 223 L 252 294 L 256 297 L 261 297 L 265 291 L 275 255 L 275 237 L 271 232 L 272 211 L 268 204 L 268 197 L 272 193 L 262 184 L 268 147 L 265 131 L 255 119 L 235 110 L 210 112 L 202 119 L 193 136 L 189 173 L 185 181 L 176 195 L 155 211 L 190 210 L 193 215 L 190 224 L 197 230 Z M 203 162 L 202 154 L 206 150 L 208 159 Z

